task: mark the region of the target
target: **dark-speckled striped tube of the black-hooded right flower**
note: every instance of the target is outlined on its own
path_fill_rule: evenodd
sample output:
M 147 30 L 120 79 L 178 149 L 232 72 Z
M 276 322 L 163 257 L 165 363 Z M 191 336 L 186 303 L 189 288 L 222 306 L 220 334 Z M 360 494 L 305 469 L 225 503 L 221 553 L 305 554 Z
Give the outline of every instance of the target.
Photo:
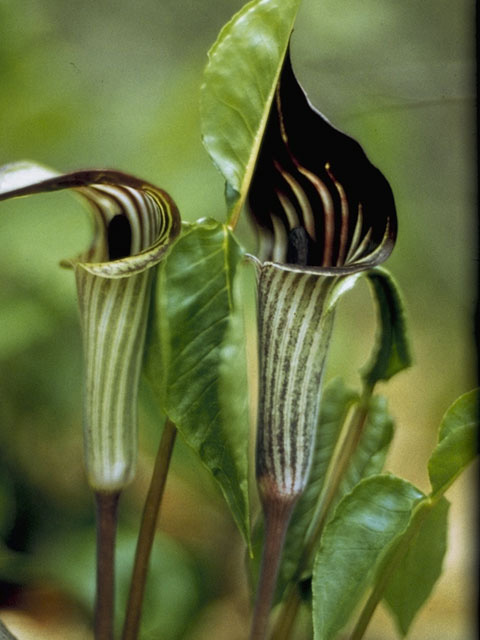
M 335 281 L 271 263 L 260 267 L 256 464 L 264 502 L 296 499 L 308 479 Z

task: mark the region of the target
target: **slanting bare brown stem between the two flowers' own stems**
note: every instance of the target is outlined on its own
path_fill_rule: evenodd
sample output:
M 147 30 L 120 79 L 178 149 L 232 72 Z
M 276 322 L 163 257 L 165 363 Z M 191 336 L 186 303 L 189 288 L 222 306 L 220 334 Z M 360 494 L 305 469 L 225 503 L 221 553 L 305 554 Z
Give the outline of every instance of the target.
M 152 550 L 153 539 L 155 537 L 158 514 L 163 498 L 176 435 L 177 429 L 175 425 L 171 420 L 167 419 L 160 439 L 152 479 L 150 481 L 150 487 L 148 489 L 145 506 L 143 508 L 142 523 L 138 534 L 135 561 L 125 614 L 125 623 L 123 627 L 123 640 L 136 640 L 138 637 L 150 553 Z

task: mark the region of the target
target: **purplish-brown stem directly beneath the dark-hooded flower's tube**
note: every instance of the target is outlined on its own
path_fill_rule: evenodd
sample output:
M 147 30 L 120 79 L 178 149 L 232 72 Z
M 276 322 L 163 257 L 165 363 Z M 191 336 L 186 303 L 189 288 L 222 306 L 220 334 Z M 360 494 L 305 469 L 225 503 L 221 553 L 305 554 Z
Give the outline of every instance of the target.
M 275 593 L 283 544 L 295 502 L 296 499 L 278 498 L 269 499 L 264 503 L 265 543 L 250 640 L 264 640 L 266 638 L 268 618 Z

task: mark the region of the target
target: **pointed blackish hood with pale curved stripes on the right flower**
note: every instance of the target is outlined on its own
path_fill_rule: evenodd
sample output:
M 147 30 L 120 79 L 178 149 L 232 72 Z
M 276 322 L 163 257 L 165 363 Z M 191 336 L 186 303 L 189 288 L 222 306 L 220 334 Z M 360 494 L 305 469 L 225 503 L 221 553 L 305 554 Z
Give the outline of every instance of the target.
M 316 110 L 287 52 L 249 190 L 262 262 L 347 275 L 388 258 L 392 190 L 362 147 Z

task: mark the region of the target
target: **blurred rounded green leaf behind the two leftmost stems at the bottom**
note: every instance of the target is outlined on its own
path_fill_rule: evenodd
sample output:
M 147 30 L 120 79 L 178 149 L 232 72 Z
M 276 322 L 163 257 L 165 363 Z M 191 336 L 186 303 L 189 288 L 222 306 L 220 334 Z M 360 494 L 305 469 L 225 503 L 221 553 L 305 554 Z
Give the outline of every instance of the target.
M 52 536 L 50 536 L 52 538 Z M 136 531 L 122 527 L 116 544 L 115 627 L 121 628 L 127 602 Z M 95 596 L 95 530 L 80 527 L 44 540 L 32 560 L 35 577 L 58 585 L 90 611 Z M 70 571 L 64 567 L 69 566 Z M 175 540 L 157 532 L 153 541 L 143 606 L 141 637 L 180 640 L 199 606 L 197 566 Z M 19 640 L 22 640 L 21 638 Z

